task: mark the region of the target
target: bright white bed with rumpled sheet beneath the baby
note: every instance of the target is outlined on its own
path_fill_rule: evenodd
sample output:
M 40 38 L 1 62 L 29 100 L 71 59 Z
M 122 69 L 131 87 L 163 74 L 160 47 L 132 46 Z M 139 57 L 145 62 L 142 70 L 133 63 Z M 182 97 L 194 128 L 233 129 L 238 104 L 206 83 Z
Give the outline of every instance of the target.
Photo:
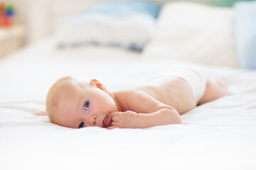
M 213 65 L 154 57 L 156 39 L 134 52 L 60 50 L 50 37 L 1 59 L 0 169 L 256 169 L 256 71 L 238 68 L 235 59 Z M 223 79 L 230 95 L 181 115 L 182 125 L 146 129 L 71 129 L 33 115 L 46 109 L 47 91 L 60 77 L 97 78 L 114 91 L 176 66 Z

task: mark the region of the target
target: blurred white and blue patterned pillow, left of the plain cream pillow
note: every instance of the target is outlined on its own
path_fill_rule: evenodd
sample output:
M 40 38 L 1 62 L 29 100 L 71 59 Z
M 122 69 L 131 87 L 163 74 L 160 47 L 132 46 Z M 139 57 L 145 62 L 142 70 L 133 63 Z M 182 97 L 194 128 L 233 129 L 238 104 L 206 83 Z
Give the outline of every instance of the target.
M 160 8 L 148 1 L 97 4 L 70 18 L 60 31 L 59 46 L 97 44 L 141 52 L 154 32 Z

